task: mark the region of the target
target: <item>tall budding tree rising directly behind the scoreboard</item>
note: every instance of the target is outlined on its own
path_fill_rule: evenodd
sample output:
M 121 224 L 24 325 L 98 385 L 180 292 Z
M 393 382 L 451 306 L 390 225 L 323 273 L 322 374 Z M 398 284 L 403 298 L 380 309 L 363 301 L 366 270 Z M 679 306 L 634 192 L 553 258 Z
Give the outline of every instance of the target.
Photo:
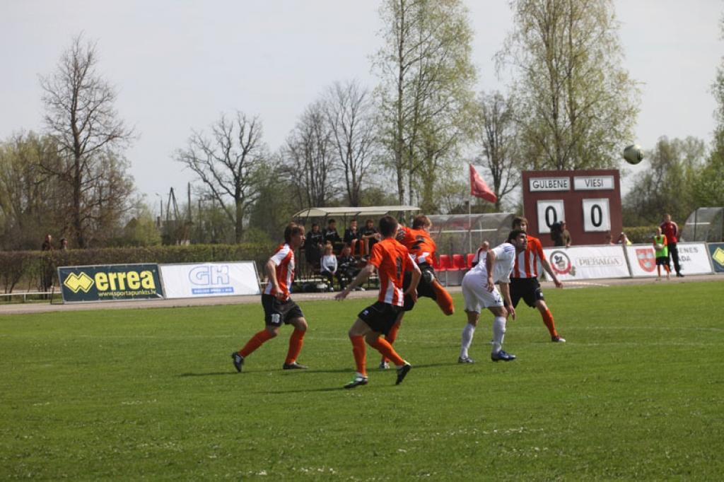
M 534 169 L 618 164 L 639 90 L 621 67 L 612 0 L 513 0 L 514 28 L 498 54 L 513 68 L 521 142 Z

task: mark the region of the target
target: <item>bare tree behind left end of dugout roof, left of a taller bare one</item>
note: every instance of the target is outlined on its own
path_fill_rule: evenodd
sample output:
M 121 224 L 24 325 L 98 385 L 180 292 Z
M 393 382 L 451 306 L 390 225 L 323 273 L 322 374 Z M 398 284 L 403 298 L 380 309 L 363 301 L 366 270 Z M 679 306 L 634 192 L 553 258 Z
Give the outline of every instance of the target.
M 334 135 L 327 122 L 324 101 L 306 108 L 287 138 L 282 153 L 283 172 L 296 187 L 299 206 L 327 206 L 334 195 L 336 174 Z

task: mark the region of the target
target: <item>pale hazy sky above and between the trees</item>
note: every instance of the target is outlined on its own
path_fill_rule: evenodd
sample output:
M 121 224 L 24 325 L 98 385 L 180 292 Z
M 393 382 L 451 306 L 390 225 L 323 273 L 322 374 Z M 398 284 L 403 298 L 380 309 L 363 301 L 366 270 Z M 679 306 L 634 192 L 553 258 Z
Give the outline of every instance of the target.
M 39 76 L 54 72 L 83 32 L 97 42 L 98 72 L 117 89 L 119 116 L 138 135 L 125 155 L 139 192 L 155 205 L 156 195 L 165 198 L 171 187 L 185 193 L 194 176 L 174 161 L 174 151 L 221 114 L 258 115 L 264 140 L 276 151 L 305 107 L 335 81 L 356 79 L 373 88 L 371 56 L 382 46 L 380 3 L 0 0 L 0 139 L 43 131 Z M 505 91 L 493 56 L 512 28 L 508 1 L 465 3 L 475 31 L 476 90 Z M 715 127 L 710 86 L 724 54 L 724 1 L 614 4 L 623 67 L 641 86 L 631 143 L 649 149 L 662 135 L 709 143 Z M 636 174 L 647 163 L 626 169 Z M 624 192 L 631 179 L 624 179 Z

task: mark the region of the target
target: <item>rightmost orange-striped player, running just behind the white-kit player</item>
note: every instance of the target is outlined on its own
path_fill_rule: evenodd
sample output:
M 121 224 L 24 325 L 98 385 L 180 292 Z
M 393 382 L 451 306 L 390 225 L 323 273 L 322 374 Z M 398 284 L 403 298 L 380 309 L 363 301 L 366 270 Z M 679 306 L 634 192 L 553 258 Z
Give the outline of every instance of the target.
M 527 232 L 528 220 L 521 216 L 516 216 L 513 219 L 513 229 L 521 229 Z M 543 292 L 538 282 L 538 261 L 540 261 L 545 272 L 553 280 L 555 286 L 557 288 L 563 287 L 563 283 L 558 281 L 557 276 L 555 276 L 555 273 L 550 268 L 550 263 L 548 263 L 548 260 L 545 258 L 540 240 L 529 234 L 528 248 L 526 248 L 525 252 L 517 255 L 513 273 L 510 274 L 510 297 L 513 300 L 513 306 L 517 306 L 518 301 L 523 298 L 526 305 L 529 305 L 531 308 L 538 308 L 543 317 L 543 323 L 550 333 L 551 341 L 563 343 L 565 339 L 561 338 L 555 330 L 553 315 L 545 303 Z

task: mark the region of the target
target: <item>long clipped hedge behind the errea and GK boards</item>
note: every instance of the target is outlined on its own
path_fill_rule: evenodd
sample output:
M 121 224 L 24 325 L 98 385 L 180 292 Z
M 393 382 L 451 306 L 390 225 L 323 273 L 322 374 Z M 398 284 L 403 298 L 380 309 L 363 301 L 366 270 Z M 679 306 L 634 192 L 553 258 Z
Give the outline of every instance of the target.
M 242 243 L 237 245 L 152 246 L 148 248 L 105 248 L 54 251 L 0 252 L 0 287 L 41 289 L 43 273 L 58 283 L 58 266 L 86 266 L 131 263 L 209 263 L 256 261 L 257 269 L 266 263 L 275 245 Z

